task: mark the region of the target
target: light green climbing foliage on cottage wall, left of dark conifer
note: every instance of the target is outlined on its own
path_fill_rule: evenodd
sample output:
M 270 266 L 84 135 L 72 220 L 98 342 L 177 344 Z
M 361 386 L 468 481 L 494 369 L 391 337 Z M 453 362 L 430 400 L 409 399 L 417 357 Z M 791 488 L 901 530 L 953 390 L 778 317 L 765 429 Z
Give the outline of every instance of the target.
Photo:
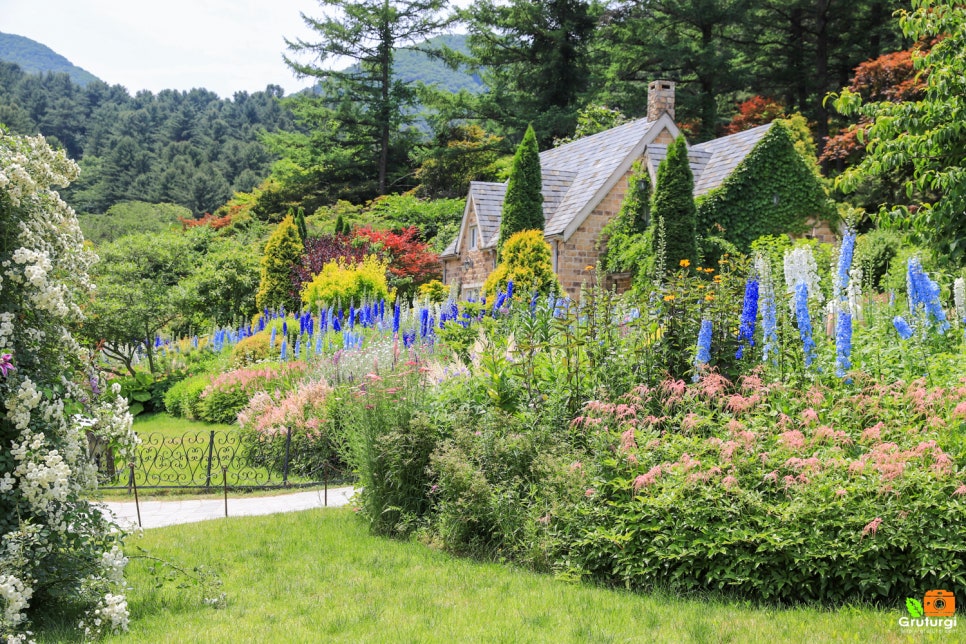
M 651 177 L 640 161 L 631 168 L 627 192 L 617 216 L 600 233 L 606 240 L 600 262 L 608 273 L 647 272 L 653 264 L 653 240 L 646 231 L 651 223 Z

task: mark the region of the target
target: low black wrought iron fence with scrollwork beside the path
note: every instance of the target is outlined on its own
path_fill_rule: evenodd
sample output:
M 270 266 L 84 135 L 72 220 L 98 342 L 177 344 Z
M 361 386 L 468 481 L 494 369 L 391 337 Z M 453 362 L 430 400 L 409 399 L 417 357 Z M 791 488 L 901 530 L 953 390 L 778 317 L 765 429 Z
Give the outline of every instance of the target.
M 242 431 L 141 434 L 132 464 L 90 449 L 101 472 L 100 489 L 268 489 L 345 481 L 345 469 L 321 439 L 291 430 L 255 437 Z

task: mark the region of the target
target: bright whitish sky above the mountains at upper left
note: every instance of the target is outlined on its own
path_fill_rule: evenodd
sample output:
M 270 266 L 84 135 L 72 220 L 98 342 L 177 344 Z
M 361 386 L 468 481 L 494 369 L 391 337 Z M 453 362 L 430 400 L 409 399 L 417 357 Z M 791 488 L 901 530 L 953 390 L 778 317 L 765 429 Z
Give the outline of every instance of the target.
M 203 87 L 222 98 L 311 85 L 282 61 L 285 40 L 312 40 L 315 0 L 0 0 L 0 32 L 47 45 L 132 95 Z

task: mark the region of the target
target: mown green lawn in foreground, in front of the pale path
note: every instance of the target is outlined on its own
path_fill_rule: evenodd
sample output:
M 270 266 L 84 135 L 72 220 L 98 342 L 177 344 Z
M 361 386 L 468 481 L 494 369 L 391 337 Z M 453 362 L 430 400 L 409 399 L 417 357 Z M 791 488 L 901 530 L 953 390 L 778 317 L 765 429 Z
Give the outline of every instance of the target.
M 781 610 L 575 585 L 373 537 L 349 510 L 149 530 L 128 545 L 209 567 L 227 603 L 204 605 L 197 589 L 176 584 L 158 589 L 148 563 L 133 559 L 131 630 L 112 642 L 922 641 L 902 632 L 898 609 Z M 927 640 L 951 641 L 964 628 Z

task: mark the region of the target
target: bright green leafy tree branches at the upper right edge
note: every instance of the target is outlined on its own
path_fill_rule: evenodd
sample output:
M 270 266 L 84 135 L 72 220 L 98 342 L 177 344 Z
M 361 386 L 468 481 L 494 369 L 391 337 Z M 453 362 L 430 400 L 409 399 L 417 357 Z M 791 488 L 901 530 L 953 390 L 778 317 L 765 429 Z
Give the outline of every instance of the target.
M 846 191 L 860 188 L 868 177 L 888 179 L 896 169 L 911 166 L 904 180 L 906 197 L 918 204 L 879 216 L 882 226 L 898 225 L 958 264 L 966 260 L 966 130 L 960 114 L 966 96 L 966 7 L 943 0 L 913 0 L 899 25 L 913 42 L 934 41 L 913 57 L 925 79 L 925 95 L 918 100 L 862 102 L 849 89 L 835 101 L 847 115 L 871 121 L 860 141 L 869 141 L 862 161 L 836 179 Z M 935 40 L 934 40 L 935 39 Z

